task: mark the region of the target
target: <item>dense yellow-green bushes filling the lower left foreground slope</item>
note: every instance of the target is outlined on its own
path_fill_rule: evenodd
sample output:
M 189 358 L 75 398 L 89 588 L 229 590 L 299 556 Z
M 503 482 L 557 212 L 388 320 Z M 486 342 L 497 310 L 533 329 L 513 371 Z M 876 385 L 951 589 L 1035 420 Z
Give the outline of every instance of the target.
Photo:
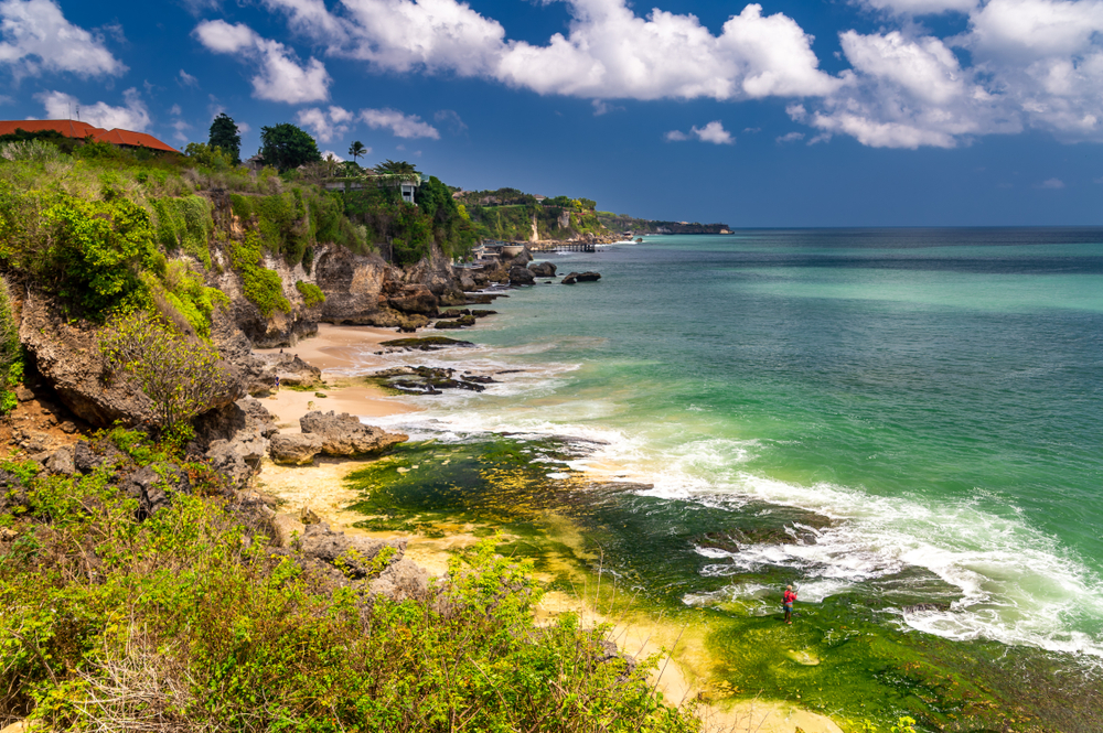
M 271 546 L 217 477 L 116 431 L 122 455 L 26 481 L 0 516 L 0 723 L 104 731 L 695 731 L 652 694 L 652 664 L 603 629 L 537 627 L 531 567 L 488 540 L 428 597 L 370 599 Z M 139 520 L 116 475 L 192 476 Z M 171 489 L 170 489 L 171 491 Z M 0 509 L 2 510 L 2 509 Z

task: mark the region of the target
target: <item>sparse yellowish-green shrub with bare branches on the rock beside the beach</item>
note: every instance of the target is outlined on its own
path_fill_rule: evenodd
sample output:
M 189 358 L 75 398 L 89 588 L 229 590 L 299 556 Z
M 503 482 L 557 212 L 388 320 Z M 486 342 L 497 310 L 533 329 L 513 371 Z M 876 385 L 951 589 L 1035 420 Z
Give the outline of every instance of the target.
M 132 377 L 153 402 L 151 421 L 162 434 L 180 435 L 218 398 L 239 397 L 240 387 L 219 364 L 217 349 L 188 339 L 159 315 L 135 311 L 117 317 L 99 349 L 113 373 Z

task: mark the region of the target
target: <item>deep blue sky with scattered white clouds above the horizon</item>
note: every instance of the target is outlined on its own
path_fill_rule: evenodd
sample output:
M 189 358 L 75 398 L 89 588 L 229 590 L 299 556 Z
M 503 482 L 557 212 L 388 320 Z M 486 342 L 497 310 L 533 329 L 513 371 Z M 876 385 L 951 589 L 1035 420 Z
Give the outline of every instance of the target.
M 1103 0 L 0 0 L 0 118 L 732 227 L 1103 225 Z

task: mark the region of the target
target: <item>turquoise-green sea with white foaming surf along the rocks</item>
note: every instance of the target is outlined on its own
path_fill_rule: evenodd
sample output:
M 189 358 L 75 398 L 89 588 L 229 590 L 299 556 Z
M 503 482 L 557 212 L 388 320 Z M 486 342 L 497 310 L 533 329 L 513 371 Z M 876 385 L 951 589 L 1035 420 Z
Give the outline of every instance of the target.
M 564 470 L 643 485 L 618 510 L 683 572 L 638 582 L 687 606 L 772 608 L 761 580 L 785 579 L 945 639 L 1103 660 L 1103 230 L 745 231 L 552 261 L 602 279 L 511 291 L 465 332 L 479 349 L 406 357 L 523 371 L 389 425 L 596 441 Z M 738 551 L 673 529 L 761 506 L 831 522 Z M 897 602 L 901 578 L 942 605 Z

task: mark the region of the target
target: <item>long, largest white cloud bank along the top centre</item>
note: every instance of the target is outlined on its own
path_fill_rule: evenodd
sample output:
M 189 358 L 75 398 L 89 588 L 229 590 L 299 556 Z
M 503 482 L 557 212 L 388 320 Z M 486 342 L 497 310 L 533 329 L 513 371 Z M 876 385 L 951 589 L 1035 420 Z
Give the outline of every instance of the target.
M 692 14 L 638 17 L 624 0 L 570 0 L 569 32 L 545 44 L 506 39 L 496 20 L 458 0 L 263 0 L 292 29 L 382 69 L 450 72 L 589 99 L 747 99 L 823 95 L 812 36 L 791 18 L 749 4 L 714 35 Z M 612 40 L 612 41 L 611 41 Z

